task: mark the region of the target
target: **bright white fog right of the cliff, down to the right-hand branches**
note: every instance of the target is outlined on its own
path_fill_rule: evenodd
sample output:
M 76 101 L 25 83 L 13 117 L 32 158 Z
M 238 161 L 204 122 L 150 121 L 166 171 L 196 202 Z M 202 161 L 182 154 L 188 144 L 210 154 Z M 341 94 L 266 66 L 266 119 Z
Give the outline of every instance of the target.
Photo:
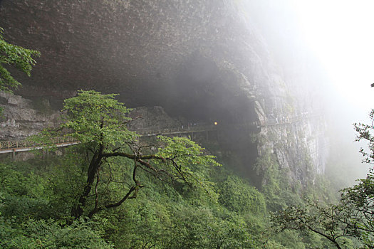
M 292 78 L 307 65 L 301 78 L 296 78 L 296 87 L 311 92 L 313 102 L 322 103 L 321 112 L 329 124 L 331 157 L 340 157 L 340 162 L 331 159 L 335 160 L 332 164 L 346 164 L 342 169 L 350 181 L 365 176 L 368 166 L 360 164 L 358 153 L 365 144 L 355 142 L 353 123 L 370 123 L 368 113 L 374 107 L 374 88 L 370 88 L 374 83 L 374 2 L 242 3 L 268 41 L 286 79 L 288 72 Z M 304 67 L 298 67 L 300 64 Z M 326 170 L 331 174 L 331 169 Z

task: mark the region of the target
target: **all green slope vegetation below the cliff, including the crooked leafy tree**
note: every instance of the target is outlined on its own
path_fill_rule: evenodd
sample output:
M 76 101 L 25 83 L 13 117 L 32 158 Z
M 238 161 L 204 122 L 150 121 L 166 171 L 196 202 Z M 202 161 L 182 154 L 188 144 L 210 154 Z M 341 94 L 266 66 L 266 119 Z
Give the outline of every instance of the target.
M 114 95 L 81 91 L 64 110 L 59 129 L 34 139 L 80 144 L 60 156 L 0 164 L 2 248 L 331 246 L 306 230 L 276 233 L 269 223 L 269 211 L 302 205 L 302 197 L 333 198 L 323 179 L 291 185 L 266 153 L 255 165 L 266 181 L 259 191 L 187 138 L 140 141 Z

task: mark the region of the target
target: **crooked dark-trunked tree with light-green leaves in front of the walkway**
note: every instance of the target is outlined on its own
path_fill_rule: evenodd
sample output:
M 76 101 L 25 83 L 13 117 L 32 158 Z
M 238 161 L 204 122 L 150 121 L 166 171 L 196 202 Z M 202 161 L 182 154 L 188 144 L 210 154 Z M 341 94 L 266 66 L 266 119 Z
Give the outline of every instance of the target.
M 214 197 L 210 182 L 199 173 L 202 167 L 219 165 L 214 157 L 204 155 L 202 147 L 183 137 L 157 137 L 152 146 L 157 150 L 140 142 L 126 126 L 131 122 L 126 117 L 130 109 L 115 100 L 114 94 L 81 90 L 77 97 L 65 100 L 63 111 L 66 116 L 60 129 L 43 132 L 41 140 L 53 143 L 55 136 L 73 137 L 86 153 L 86 181 L 71 209 L 73 217 L 92 217 L 136 198 L 145 186 L 139 174 L 151 174 L 175 187 L 203 189 Z

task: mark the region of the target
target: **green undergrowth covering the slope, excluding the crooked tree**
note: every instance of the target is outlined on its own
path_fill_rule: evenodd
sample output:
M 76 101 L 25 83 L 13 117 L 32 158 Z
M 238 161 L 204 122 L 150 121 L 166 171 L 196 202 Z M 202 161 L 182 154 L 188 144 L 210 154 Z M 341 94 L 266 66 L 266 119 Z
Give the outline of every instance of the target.
M 328 244 L 313 235 L 272 234 L 266 211 L 271 199 L 224 167 L 204 172 L 214 183 L 216 199 L 199 189 L 171 186 L 150 174 L 139 174 L 145 186 L 136 199 L 90 219 L 74 218 L 71 208 L 85 184 L 79 163 L 84 157 L 71 148 L 60 157 L 0 164 L 2 248 L 321 248 Z M 131 165 L 118 160 L 123 162 L 122 177 L 131 179 Z M 120 197 L 122 187 L 110 185 L 105 194 Z M 274 201 L 286 206 L 290 198 Z

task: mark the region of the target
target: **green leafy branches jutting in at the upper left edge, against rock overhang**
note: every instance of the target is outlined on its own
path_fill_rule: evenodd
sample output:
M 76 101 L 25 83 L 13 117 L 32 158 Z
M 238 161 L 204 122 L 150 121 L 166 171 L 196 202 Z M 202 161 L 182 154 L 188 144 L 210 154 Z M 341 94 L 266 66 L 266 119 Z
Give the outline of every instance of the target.
M 4 41 L 4 29 L 0 28 L 0 91 L 11 92 L 12 89 L 17 89 L 21 85 L 9 73 L 4 65 L 13 65 L 15 68 L 31 75 L 31 69 L 36 61 L 33 56 L 40 56 L 38 51 L 22 48 Z

